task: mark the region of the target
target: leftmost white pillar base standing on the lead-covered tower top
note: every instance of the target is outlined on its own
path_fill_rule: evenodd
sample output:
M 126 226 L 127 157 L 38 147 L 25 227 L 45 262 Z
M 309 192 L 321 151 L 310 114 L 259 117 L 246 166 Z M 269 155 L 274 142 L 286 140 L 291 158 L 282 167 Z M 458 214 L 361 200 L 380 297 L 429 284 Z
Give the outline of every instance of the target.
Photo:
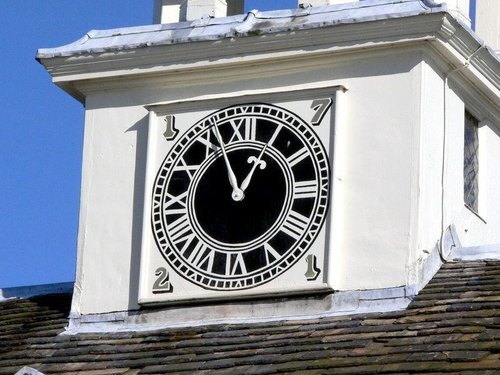
M 243 0 L 155 0 L 154 23 L 193 21 L 243 13 Z

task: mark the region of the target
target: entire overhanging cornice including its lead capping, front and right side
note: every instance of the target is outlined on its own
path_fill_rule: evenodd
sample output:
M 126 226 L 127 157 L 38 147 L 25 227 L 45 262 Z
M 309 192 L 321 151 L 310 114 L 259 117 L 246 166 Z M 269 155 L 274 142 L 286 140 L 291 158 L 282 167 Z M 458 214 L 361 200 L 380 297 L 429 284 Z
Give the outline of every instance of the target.
M 98 80 L 160 77 L 182 71 L 269 64 L 324 54 L 428 45 L 458 77 L 493 103 L 500 60 L 443 4 L 430 0 L 363 2 L 258 12 L 177 24 L 92 31 L 67 46 L 40 49 L 53 81 L 84 101 L 81 86 Z M 498 106 L 498 104 L 497 104 Z

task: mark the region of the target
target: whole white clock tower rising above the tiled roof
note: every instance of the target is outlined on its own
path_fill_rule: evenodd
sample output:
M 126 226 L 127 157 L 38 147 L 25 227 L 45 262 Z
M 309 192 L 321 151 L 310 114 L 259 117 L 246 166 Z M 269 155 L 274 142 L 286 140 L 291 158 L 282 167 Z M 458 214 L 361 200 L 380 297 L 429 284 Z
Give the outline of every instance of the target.
M 401 309 L 500 243 L 498 57 L 451 3 L 157 0 L 39 50 L 85 105 L 70 328 Z

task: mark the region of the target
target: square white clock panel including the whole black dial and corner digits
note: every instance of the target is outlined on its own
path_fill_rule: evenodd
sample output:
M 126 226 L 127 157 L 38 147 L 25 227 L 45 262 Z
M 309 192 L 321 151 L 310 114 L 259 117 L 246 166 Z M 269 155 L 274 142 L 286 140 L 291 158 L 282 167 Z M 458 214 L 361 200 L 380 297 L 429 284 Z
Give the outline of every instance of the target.
M 331 290 L 335 93 L 148 107 L 140 304 Z

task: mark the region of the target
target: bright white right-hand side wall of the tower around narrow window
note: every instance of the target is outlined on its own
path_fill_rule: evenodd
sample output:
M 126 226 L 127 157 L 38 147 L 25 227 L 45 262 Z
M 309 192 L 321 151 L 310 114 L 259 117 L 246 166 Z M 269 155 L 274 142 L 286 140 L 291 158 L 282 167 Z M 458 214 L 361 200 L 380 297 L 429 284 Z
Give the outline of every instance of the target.
M 500 126 L 481 106 L 480 97 L 455 84 L 456 74 L 429 60 L 423 65 L 419 250 L 432 250 L 452 224 L 463 246 L 500 243 Z M 466 109 L 480 120 L 477 213 L 463 199 Z

